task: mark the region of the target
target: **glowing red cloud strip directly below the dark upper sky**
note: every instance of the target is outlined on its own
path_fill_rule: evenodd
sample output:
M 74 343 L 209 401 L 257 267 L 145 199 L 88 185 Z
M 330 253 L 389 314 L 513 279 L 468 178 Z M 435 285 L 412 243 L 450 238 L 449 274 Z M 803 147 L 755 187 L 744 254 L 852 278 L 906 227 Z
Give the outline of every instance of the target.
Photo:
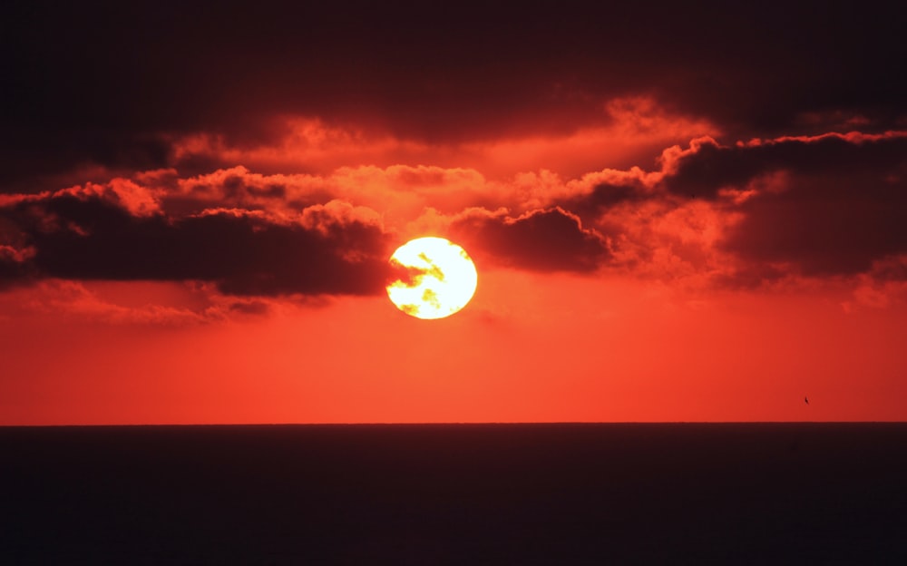
M 280 118 L 284 127 L 274 139 L 258 144 L 210 133 L 178 137 L 172 163 L 186 172 L 243 163 L 255 171 L 329 174 L 341 167 L 390 170 L 401 163 L 431 163 L 498 179 L 542 169 L 578 175 L 604 164 L 629 166 L 670 143 L 719 133 L 705 120 L 667 112 L 651 97 L 614 98 L 595 106 L 585 123 L 562 132 L 491 139 L 479 132 L 472 140 L 435 142 L 288 115 Z

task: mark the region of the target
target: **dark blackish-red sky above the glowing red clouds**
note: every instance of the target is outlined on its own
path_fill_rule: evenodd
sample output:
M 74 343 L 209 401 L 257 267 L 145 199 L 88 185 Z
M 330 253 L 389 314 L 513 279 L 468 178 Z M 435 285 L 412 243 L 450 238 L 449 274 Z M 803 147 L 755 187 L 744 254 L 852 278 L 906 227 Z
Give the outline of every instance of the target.
M 0 39 L 0 187 L 167 165 L 169 135 L 279 115 L 455 142 L 569 132 L 648 94 L 732 138 L 903 126 L 902 18 L 873 3 L 15 2 Z M 0 189 L 2 190 L 2 189 Z

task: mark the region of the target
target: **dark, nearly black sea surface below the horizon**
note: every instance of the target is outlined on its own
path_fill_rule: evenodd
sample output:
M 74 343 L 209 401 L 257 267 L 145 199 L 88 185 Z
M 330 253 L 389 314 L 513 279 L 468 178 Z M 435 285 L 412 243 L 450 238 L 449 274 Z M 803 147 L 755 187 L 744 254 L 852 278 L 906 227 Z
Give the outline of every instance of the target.
M 0 564 L 907 564 L 907 424 L 0 428 Z

